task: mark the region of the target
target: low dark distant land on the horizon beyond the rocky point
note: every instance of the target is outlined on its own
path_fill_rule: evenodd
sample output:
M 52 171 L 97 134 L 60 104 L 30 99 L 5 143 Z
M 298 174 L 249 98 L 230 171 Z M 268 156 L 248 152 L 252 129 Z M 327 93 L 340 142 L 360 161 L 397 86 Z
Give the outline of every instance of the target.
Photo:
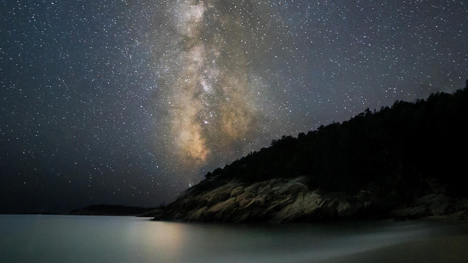
M 66 215 L 106 215 L 106 216 L 137 216 L 155 208 L 126 207 L 117 205 L 94 205 L 79 209 L 73 209 Z

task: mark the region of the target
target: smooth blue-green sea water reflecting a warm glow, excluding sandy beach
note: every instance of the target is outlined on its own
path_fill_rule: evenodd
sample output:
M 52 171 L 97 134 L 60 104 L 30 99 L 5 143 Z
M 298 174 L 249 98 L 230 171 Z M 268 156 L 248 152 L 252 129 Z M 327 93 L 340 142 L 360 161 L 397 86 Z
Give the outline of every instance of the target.
M 314 262 L 466 225 L 428 221 L 211 225 L 111 216 L 0 215 L 1 262 Z

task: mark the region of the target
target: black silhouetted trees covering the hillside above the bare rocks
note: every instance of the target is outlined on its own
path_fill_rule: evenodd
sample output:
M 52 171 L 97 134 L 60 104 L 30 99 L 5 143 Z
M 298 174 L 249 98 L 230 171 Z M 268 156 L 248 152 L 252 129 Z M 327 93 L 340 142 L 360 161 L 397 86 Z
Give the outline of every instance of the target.
M 297 138 L 283 136 L 207 178 L 255 182 L 304 175 L 311 188 L 398 192 L 408 199 L 425 180 L 435 178 L 449 193 L 466 195 L 467 116 L 468 82 L 454 94 L 396 101 Z

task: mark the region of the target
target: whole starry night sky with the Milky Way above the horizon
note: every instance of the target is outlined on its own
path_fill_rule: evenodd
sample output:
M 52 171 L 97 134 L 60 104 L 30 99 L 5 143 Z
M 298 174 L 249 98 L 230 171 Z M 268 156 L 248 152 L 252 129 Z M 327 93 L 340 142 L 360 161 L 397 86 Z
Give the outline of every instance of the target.
M 463 88 L 468 2 L 3 0 L 0 212 L 157 207 L 251 150 Z

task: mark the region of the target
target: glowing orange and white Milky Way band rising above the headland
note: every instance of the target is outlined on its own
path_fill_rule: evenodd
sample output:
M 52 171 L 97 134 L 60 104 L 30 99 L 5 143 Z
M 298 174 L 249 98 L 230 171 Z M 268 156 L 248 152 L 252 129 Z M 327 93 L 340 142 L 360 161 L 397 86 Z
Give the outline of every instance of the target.
M 237 6 L 233 6 L 237 8 Z M 233 160 L 252 150 L 269 119 L 261 79 L 249 54 L 255 35 L 242 25 L 242 12 L 223 1 L 171 3 L 171 51 L 159 66 L 165 98 L 168 147 L 175 162 L 195 168 L 211 160 Z M 256 135 L 257 134 L 257 135 Z M 171 142 L 172 143 L 172 142 Z

